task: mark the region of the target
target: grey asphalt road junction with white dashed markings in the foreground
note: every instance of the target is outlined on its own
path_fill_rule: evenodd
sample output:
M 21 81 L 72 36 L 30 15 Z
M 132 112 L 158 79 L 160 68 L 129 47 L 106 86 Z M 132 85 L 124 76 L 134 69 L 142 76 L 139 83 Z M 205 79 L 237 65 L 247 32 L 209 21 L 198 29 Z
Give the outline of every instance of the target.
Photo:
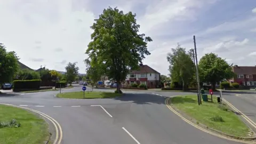
M 62 92 L 80 90 L 81 87 L 74 87 Z M 87 87 L 87 91 L 90 90 Z M 0 102 L 23 105 L 53 117 L 62 127 L 61 143 L 238 143 L 187 124 L 166 107 L 165 97 L 160 96 L 171 97 L 182 93 L 124 91 L 123 97 L 113 99 L 61 99 L 54 97 L 57 93 L 48 91 L 2 96 Z

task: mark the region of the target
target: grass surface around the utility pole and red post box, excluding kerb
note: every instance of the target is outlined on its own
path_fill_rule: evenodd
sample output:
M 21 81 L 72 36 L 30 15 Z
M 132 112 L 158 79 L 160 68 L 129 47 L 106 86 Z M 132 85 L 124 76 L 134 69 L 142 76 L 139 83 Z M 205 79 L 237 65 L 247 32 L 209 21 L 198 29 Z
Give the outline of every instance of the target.
M 208 95 L 208 99 L 211 101 L 210 95 Z M 220 108 L 216 97 L 213 97 L 213 102 L 204 102 L 202 100 L 201 106 L 198 106 L 196 95 L 173 97 L 169 101 L 170 103 L 188 116 L 196 119 L 197 122 L 214 130 L 236 137 L 248 137 L 250 130 L 246 124 L 232 111 L 225 111 Z M 221 122 L 222 120 L 223 122 Z

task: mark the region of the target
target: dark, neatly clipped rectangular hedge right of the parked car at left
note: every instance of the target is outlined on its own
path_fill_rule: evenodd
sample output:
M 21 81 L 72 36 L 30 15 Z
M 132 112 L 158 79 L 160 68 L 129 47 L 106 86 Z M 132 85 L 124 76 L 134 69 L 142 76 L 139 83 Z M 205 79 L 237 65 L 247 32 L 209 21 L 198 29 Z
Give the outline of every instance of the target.
M 21 89 L 33 89 L 39 90 L 41 84 L 41 79 L 32 80 L 15 80 L 13 81 L 13 91 L 19 91 Z

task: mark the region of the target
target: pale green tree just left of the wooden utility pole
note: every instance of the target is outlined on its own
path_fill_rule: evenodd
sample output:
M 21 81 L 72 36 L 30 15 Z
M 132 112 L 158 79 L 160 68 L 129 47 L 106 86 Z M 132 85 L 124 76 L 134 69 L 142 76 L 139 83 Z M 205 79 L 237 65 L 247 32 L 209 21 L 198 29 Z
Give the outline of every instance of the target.
M 167 54 L 167 61 L 170 63 L 172 81 L 182 84 L 182 89 L 185 90 L 195 75 L 193 54 L 191 51 L 186 52 L 186 49 L 178 44 L 175 49 L 172 49 L 172 53 Z

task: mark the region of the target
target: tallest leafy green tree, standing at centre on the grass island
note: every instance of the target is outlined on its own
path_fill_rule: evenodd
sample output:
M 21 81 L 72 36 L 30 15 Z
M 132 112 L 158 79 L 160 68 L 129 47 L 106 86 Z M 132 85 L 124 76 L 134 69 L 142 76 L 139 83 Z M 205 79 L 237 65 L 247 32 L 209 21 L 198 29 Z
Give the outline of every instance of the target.
M 152 39 L 138 34 L 140 25 L 135 16 L 109 7 L 91 26 L 94 32 L 86 50 L 91 67 L 100 65 L 106 76 L 115 79 L 118 93 L 130 69 L 138 69 L 139 62 L 150 54 L 147 43 Z

